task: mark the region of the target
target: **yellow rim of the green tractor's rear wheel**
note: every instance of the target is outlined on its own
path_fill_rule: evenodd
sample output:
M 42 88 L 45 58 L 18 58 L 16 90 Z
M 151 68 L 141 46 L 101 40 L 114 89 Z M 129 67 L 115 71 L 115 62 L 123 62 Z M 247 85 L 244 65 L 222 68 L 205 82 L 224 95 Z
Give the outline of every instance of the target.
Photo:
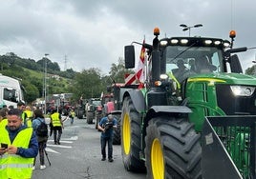
M 127 155 L 130 152 L 131 148 L 131 125 L 130 117 L 125 113 L 122 124 L 122 146 L 124 153 Z

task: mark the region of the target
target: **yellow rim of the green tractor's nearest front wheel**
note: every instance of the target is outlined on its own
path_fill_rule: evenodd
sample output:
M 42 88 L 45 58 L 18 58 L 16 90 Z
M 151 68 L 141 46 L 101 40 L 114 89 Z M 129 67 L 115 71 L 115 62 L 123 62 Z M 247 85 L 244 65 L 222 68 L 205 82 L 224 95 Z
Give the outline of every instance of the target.
M 151 148 L 151 167 L 154 179 L 163 179 L 164 165 L 160 140 L 154 139 Z

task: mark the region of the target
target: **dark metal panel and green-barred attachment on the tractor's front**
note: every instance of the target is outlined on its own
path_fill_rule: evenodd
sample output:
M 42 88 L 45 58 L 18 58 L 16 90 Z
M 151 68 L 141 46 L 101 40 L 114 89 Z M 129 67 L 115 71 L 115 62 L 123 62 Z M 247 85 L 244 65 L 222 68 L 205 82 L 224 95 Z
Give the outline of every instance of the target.
M 205 117 L 203 178 L 255 179 L 255 126 L 255 115 Z

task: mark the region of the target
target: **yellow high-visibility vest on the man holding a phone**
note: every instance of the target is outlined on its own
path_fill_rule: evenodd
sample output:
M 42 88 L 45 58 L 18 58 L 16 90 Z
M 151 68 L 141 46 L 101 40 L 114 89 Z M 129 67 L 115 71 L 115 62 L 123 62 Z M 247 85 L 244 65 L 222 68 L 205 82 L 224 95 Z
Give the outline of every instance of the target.
M 32 138 L 32 128 L 22 129 L 12 144 L 7 129 L 0 129 L 0 142 L 17 148 L 28 149 Z M 18 154 L 5 153 L 0 156 L 0 178 L 32 178 L 33 158 L 25 158 Z

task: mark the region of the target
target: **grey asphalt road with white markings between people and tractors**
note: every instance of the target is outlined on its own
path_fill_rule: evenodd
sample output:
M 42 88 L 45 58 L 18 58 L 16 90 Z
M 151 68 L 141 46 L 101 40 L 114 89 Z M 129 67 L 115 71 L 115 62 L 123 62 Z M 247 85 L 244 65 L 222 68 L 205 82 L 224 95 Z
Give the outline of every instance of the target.
M 120 146 L 114 146 L 114 162 L 101 161 L 100 132 L 95 125 L 88 125 L 85 119 L 69 120 L 64 123 L 60 145 L 49 138 L 47 153 L 51 166 L 45 158 L 46 169 L 39 169 L 39 159 L 32 179 L 145 179 L 145 173 L 133 173 L 124 169 Z

